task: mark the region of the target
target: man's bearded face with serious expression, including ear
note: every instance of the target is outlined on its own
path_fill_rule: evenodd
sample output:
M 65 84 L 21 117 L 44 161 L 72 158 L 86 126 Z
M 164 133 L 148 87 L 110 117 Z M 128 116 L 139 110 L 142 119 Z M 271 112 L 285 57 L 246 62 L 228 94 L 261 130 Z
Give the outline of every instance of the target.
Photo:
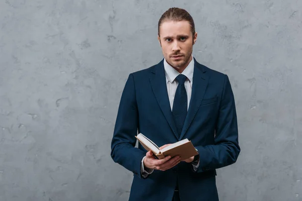
M 167 62 L 181 73 L 192 60 L 197 33 L 193 36 L 188 21 L 167 21 L 161 25 L 158 39 Z

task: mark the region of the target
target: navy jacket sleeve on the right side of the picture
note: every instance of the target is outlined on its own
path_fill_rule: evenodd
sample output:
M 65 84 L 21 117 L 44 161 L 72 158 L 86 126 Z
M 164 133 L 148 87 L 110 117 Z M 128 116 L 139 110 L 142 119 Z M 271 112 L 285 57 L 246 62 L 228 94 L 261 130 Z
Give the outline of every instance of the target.
M 224 75 L 214 145 L 196 146 L 199 152 L 197 172 L 217 169 L 236 162 L 240 147 L 235 99 L 229 77 Z

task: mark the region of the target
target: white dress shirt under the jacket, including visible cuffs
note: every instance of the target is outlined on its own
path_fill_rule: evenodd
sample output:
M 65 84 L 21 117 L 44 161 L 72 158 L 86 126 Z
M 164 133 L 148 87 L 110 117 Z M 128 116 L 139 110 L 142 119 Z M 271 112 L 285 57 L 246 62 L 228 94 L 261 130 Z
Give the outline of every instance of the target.
M 171 106 L 171 111 L 173 109 L 173 102 L 174 102 L 174 97 L 175 97 L 175 92 L 178 86 L 178 82 L 175 79 L 179 74 L 183 74 L 187 77 L 185 81 L 185 88 L 187 91 L 187 96 L 188 96 L 188 109 L 189 109 L 189 104 L 190 104 L 190 99 L 191 99 L 191 94 L 192 94 L 192 85 L 193 85 L 193 72 L 194 72 L 194 59 L 192 56 L 192 60 L 189 63 L 189 65 L 185 68 L 185 70 L 182 73 L 179 73 L 177 70 L 175 70 L 171 65 L 169 65 L 164 59 L 164 68 L 165 68 L 165 75 L 166 75 L 166 83 L 167 83 L 167 90 L 168 90 L 168 97 L 169 97 L 169 102 Z M 151 174 L 154 169 L 149 169 L 143 166 L 143 160 L 145 156 L 141 160 L 141 167 L 140 167 L 140 172 L 142 177 L 146 177 L 148 174 Z M 193 164 L 192 164 L 193 165 Z M 199 166 L 199 161 L 198 164 L 195 166 L 193 165 L 194 171 L 197 170 Z

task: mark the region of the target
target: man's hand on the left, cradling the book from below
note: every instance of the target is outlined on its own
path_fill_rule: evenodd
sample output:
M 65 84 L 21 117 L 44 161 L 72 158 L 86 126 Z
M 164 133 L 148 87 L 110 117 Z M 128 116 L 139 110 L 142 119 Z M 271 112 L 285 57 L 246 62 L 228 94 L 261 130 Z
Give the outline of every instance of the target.
M 146 157 L 143 160 L 144 167 L 150 168 L 150 169 L 157 169 L 165 171 L 167 169 L 170 169 L 177 165 L 180 162 L 180 156 L 174 156 L 171 158 L 171 156 L 166 156 L 163 159 L 156 159 L 153 156 L 152 151 L 148 151 L 146 153 Z

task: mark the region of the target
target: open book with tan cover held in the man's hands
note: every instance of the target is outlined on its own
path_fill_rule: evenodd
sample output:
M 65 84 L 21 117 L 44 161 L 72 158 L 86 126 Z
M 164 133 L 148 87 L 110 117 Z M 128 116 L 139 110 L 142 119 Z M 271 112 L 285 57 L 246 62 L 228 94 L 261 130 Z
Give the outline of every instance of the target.
M 198 154 L 192 142 L 188 139 L 178 141 L 160 149 L 154 142 L 152 142 L 141 133 L 139 133 L 135 137 L 143 146 L 143 148 L 145 148 L 147 151 L 151 150 L 154 153 L 154 156 L 156 156 L 158 159 L 162 159 L 166 156 L 173 157 L 179 155 L 181 157 L 181 160 L 185 160 Z

